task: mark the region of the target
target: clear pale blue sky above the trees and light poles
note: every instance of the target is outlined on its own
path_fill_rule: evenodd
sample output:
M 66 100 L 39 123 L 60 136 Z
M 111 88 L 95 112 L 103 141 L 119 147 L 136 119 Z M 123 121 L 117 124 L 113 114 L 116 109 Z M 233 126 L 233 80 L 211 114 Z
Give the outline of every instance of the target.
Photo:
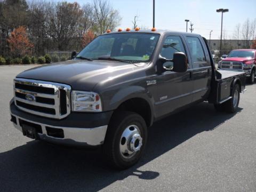
M 85 4 L 91 0 L 68 0 Z M 121 28 L 132 27 L 135 14 L 139 15 L 139 26 L 151 28 L 153 17 L 153 0 L 109 0 L 110 4 L 119 11 L 122 21 Z M 220 37 L 221 13 L 216 9 L 229 9 L 223 14 L 223 29 L 227 38 L 232 38 L 235 25 L 256 18 L 256 0 L 155 0 L 155 25 L 157 29 L 186 30 L 185 19 L 194 23 L 193 33 L 212 39 Z M 190 27 L 190 26 L 189 26 Z

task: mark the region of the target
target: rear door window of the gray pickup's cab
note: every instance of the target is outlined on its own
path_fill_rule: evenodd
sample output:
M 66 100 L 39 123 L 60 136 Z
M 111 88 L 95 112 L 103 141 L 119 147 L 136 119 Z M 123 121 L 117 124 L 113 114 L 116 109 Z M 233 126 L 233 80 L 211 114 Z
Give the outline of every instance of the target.
M 192 62 L 206 61 L 202 44 L 197 37 L 187 37 Z

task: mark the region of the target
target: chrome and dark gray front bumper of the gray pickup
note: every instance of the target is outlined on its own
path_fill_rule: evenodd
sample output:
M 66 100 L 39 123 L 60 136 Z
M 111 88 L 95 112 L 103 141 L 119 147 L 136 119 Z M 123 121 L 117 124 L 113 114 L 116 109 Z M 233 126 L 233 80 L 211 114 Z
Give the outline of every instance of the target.
M 61 145 L 89 147 L 103 144 L 113 113 L 74 113 L 64 119 L 50 119 L 21 111 L 14 102 L 10 103 L 10 110 L 13 125 L 21 132 L 22 125 L 29 124 L 39 127 L 36 128 L 39 129 L 37 139 Z

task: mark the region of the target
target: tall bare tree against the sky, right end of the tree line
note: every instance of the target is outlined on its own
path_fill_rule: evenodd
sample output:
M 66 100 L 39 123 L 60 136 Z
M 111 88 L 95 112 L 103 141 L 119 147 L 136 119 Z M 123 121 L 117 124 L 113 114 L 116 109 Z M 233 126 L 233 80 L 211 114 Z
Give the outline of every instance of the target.
M 95 18 L 93 29 L 97 35 L 105 33 L 107 29 L 114 30 L 121 21 L 119 12 L 114 10 L 108 1 L 94 0 L 93 11 Z

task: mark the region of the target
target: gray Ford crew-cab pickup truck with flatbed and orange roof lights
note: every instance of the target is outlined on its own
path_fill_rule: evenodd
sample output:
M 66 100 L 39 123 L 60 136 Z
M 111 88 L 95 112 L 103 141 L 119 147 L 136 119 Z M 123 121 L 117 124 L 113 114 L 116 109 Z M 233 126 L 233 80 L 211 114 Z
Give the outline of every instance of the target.
M 158 119 L 203 101 L 235 113 L 244 91 L 245 73 L 216 70 L 200 35 L 118 31 L 73 60 L 17 75 L 11 121 L 32 139 L 101 146 L 110 165 L 126 169 L 141 158 Z

